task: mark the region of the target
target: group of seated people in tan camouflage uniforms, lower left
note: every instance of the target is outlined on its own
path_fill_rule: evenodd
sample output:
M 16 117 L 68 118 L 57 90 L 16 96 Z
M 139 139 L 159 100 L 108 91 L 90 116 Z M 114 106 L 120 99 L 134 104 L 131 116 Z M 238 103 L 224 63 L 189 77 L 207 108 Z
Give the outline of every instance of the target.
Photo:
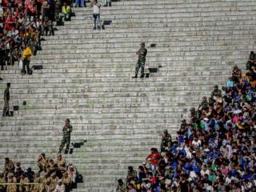
M 80 179 L 76 167 L 66 163 L 61 154 L 58 158 L 38 157 L 39 171 L 35 173 L 30 167 L 25 170 L 20 162 L 5 158 L 5 166 L 0 174 L 1 192 L 68 192 Z M 7 183 L 7 185 L 6 185 Z M 2 184 L 2 185 L 1 185 Z

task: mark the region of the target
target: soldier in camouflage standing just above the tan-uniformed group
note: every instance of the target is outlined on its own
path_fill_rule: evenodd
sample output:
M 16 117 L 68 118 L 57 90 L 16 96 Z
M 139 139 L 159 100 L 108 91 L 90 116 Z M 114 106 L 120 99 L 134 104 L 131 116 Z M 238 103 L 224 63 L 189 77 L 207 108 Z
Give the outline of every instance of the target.
M 62 138 L 61 146 L 59 146 L 59 150 L 58 150 L 59 154 L 62 152 L 65 144 L 66 144 L 65 154 L 68 153 L 68 151 L 70 149 L 70 134 L 71 134 L 72 130 L 73 130 L 73 127 L 70 125 L 70 119 L 66 118 L 65 126 L 62 129 L 63 138 Z

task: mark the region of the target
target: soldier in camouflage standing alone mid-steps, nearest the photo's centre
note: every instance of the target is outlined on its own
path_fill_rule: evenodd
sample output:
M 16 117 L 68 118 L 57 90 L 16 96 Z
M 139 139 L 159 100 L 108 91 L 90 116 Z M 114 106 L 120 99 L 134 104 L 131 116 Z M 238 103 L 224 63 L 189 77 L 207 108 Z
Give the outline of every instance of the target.
M 136 54 L 138 54 L 138 62 L 136 64 L 135 76 L 133 78 L 138 78 L 139 68 L 142 68 L 140 78 L 144 78 L 144 67 L 145 67 L 145 62 L 146 62 L 146 53 L 147 53 L 147 50 L 145 48 L 145 43 L 142 42 L 141 48 L 136 52 Z

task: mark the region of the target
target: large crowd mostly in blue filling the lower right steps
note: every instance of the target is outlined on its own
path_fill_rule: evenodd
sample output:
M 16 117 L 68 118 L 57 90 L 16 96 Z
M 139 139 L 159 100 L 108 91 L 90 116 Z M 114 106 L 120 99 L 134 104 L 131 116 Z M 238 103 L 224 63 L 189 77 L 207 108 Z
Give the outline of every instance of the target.
M 246 73 L 234 66 L 226 86 L 214 86 L 174 140 L 164 130 L 160 151 L 150 150 L 138 170 L 128 167 L 117 192 L 256 191 L 256 57 Z

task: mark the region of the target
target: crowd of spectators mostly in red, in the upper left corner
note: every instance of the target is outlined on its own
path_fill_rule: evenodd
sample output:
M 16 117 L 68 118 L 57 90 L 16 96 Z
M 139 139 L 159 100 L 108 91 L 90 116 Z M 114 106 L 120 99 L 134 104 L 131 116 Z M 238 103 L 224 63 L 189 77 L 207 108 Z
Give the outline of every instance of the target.
M 65 0 L 2 0 L 0 2 L 0 66 L 22 61 L 22 51 L 41 50 L 42 35 L 54 35 L 62 19 L 70 21 L 72 2 Z M 20 67 L 22 70 L 22 66 Z M 23 67 L 24 69 L 24 67 Z

